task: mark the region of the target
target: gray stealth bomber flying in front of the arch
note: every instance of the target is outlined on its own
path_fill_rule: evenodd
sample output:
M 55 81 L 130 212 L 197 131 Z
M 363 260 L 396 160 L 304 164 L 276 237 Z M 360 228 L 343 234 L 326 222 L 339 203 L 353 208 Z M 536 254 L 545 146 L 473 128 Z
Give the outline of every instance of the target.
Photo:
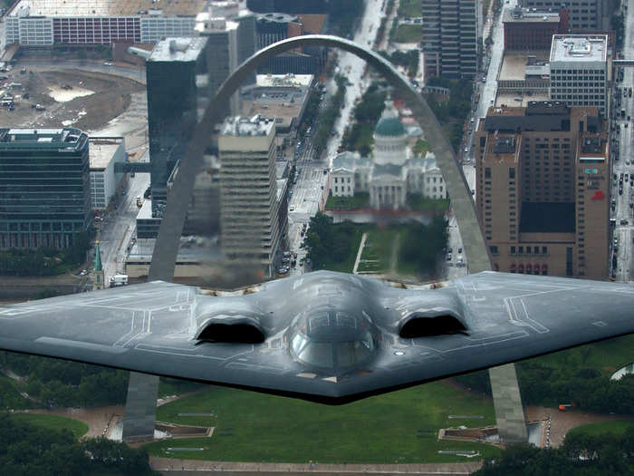
M 346 403 L 634 332 L 634 286 L 585 279 L 408 290 L 318 271 L 252 291 L 155 281 L 0 306 L 0 348 Z

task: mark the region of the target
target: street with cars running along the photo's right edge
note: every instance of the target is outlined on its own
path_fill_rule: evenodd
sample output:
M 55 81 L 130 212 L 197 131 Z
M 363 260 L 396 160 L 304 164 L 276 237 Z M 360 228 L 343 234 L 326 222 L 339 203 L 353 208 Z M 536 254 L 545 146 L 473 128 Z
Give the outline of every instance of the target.
M 627 0 L 625 0 L 627 5 Z M 625 39 L 623 42 L 623 54 L 625 59 L 634 58 L 634 34 L 632 33 L 632 24 L 634 24 L 634 12 L 632 9 L 626 10 L 625 18 Z M 628 120 L 634 115 L 634 97 L 629 97 L 629 88 L 634 85 L 634 71 L 631 67 L 623 68 L 623 81 L 615 82 L 616 93 L 612 95 L 612 103 L 615 105 L 613 109 L 612 120 L 615 124 L 615 130 L 611 131 L 612 140 L 616 141 L 618 151 L 612 154 L 613 170 L 616 174 L 616 180 L 612 180 L 611 199 L 616 200 L 616 210 L 612 211 L 611 218 L 615 219 L 616 225 L 612 240 L 612 250 L 617 255 L 616 267 L 612 269 L 612 276 L 617 281 L 628 282 L 632 280 L 632 226 L 634 225 L 634 208 L 630 207 L 630 203 L 634 203 L 634 187 L 632 183 L 632 173 L 634 166 L 632 164 L 632 141 L 634 134 L 632 133 L 632 122 Z M 628 93 L 623 94 L 623 90 L 627 89 Z M 617 97 L 620 96 L 621 104 L 617 106 Z M 620 111 L 625 110 L 625 117 L 620 117 Z M 627 124 L 627 127 L 626 127 Z M 612 142 L 614 149 L 615 143 Z M 617 160 L 618 159 L 618 160 Z M 623 174 L 622 194 L 619 193 L 620 177 Z M 625 177 L 628 176 L 628 179 Z M 614 177 L 614 176 L 612 176 Z M 615 241 L 618 243 L 617 249 L 614 249 Z M 610 255 L 611 256 L 611 255 Z M 614 261 L 612 260 L 612 265 Z

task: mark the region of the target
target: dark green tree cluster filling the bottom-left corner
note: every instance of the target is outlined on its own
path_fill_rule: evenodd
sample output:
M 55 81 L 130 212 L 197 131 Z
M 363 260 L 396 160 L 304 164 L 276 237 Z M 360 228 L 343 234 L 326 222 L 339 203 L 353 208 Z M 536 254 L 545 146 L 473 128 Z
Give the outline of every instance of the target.
M 158 475 L 148 452 L 103 438 L 77 440 L 68 430 L 43 429 L 0 414 L 0 468 L 3 474 L 74 476 Z

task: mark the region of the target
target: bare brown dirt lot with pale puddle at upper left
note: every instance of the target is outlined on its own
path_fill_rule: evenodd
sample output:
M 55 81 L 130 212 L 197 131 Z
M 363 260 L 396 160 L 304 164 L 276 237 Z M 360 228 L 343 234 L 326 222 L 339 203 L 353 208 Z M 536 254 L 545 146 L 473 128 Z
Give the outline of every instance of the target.
M 15 69 L 5 73 L 9 79 L 0 85 L 0 91 L 15 97 L 15 109 L 0 109 L 0 127 L 61 127 L 72 125 L 84 131 L 99 129 L 111 119 L 125 112 L 130 106 L 130 94 L 142 92 L 145 86 L 126 78 L 104 73 L 78 70 L 35 71 L 24 74 Z M 10 83 L 21 83 L 22 87 L 9 88 Z M 49 94 L 59 94 L 58 102 Z M 28 99 L 22 96 L 28 93 Z M 82 97 L 79 93 L 90 94 Z M 65 97 L 63 97 L 65 96 Z M 35 104 L 45 110 L 37 111 Z

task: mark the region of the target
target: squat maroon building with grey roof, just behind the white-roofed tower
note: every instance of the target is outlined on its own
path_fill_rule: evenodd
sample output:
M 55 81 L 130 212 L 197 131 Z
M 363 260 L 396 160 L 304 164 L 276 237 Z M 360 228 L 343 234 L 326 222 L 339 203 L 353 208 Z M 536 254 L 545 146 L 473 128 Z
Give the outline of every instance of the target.
M 504 53 L 516 51 L 550 51 L 553 34 L 567 34 L 568 11 L 536 10 L 517 5 L 513 10 L 505 9 Z

